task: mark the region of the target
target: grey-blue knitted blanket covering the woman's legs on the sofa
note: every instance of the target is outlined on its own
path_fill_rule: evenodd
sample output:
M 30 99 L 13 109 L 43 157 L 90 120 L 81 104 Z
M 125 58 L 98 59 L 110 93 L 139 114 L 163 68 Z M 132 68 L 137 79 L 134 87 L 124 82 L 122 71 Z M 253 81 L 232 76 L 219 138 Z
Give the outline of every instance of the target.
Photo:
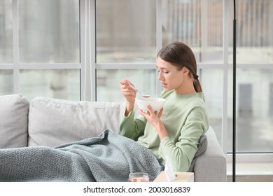
M 0 150 L 0 181 L 127 181 L 145 172 L 153 181 L 163 170 L 155 156 L 132 139 L 106 130 L 98 137 L 55 148 Z

